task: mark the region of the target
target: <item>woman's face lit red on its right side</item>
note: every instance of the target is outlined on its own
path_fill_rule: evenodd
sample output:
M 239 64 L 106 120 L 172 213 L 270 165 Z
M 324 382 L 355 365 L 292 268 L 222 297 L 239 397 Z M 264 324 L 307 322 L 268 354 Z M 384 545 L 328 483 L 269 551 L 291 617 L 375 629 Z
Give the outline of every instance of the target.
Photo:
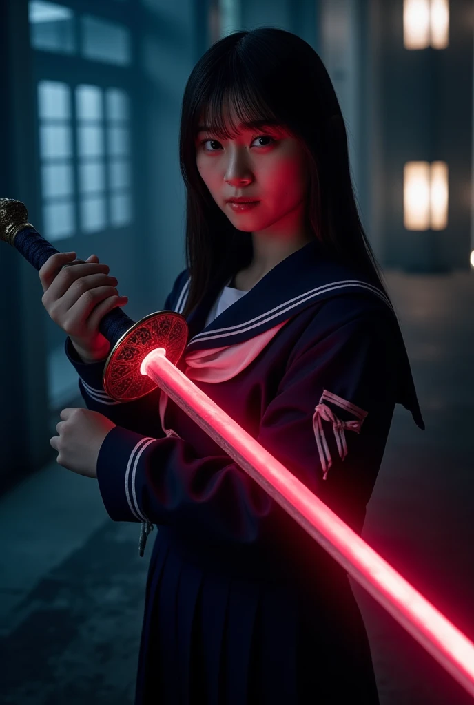
M 295 228 L 300 230 L 308 184 L 306 156 L 284 128 L 241 125 L 232 140 L 217 140 L 212 130 L 200 130 L 196 163 L 214 201 L 238 230 L 270 228 L 293 235 Z M 258 204 L 234 211 L 227 200 L 238 196 L 257 199 Z

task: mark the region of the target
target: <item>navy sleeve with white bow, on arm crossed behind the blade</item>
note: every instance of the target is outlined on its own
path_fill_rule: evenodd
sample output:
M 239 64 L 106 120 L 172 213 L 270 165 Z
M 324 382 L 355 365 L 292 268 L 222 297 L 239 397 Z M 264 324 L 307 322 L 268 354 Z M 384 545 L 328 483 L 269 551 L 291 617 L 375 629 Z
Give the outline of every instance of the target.
M 357 319 L 292 354 L 257 435 L 353 527 L 365 513 L 394 411 L 392 328 Z M 197 455 L 192 439 L 153 439 L 117 426 L 100 448 L 97 479 L 115 521 L 149 520 L 232 544 L 265 540 L 275 529 L 277 503 L 226 453 Z

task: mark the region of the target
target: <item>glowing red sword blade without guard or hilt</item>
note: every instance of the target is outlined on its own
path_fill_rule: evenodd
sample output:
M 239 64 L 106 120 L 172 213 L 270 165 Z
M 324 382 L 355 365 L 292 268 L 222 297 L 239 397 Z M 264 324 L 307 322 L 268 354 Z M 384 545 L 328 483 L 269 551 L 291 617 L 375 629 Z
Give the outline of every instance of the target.
M 148 374 L 474 696 L 473 642 L 167 360 L 164 348 L 149 353 L 140 372 Z

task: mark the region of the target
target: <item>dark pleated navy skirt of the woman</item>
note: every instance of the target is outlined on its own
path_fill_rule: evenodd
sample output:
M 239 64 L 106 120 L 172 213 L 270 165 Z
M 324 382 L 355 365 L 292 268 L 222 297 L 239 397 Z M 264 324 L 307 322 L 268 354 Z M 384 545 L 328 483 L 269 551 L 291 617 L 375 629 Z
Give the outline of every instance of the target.
M 202 565 L 158 527 L 135 705 L 352 702 L 379 705 L 347 577 L 334 600 L 312 603 L 286 584 Z

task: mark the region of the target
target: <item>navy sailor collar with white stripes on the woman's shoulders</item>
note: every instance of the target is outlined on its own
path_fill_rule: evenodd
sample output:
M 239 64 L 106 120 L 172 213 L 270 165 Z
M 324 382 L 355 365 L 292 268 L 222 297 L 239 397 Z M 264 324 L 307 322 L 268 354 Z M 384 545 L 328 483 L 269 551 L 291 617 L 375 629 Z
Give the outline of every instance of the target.
M 186 305 L 189 285 L 188 276 L 178 295 L 175 307 L 178 313 Z M 288 255 L 244 296 L 205 326 L 207 315 L 222 288 L 221 281 L 213 281 L 200 305 L 190 313 L 188 352 L 242 343 L 315 302 L 343 294 L 366 293 L 375 296 L 393 311 L 389 299 L 374 281 L 328 257 L 316 240 Z

